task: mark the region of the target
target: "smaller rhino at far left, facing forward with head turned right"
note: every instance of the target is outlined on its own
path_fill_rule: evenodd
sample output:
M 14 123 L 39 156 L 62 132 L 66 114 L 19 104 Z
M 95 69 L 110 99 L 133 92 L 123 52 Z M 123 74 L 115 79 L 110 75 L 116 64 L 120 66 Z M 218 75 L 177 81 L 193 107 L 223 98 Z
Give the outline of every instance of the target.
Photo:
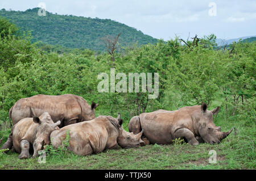
M 12 128 L 9 149 L 13 146 L 14 150 L 20 153 L 20 159 L 29 158 L 30 152 L 34 151 L 33 158 L 35 158 L 44 145 L 50 144 L 50 134 L 55 129 L 60 129 L 57 127 L 58 125 L 60 125 L 60 121 L 53 123 L 48 112 L 44 112 L 39 117 L 23 118 Z

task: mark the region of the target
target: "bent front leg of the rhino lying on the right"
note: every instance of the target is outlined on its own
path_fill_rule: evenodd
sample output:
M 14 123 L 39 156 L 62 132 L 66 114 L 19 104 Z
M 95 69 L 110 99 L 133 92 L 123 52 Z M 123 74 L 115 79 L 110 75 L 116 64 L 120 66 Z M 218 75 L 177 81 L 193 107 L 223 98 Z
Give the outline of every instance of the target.
M 175 131 L 174 139 L 180 137 L 185 137 L 188 143 L 191 145 L 199 145 L 199 141 L 196 140 L 194 134 L 187 128 L 180 128 Z

